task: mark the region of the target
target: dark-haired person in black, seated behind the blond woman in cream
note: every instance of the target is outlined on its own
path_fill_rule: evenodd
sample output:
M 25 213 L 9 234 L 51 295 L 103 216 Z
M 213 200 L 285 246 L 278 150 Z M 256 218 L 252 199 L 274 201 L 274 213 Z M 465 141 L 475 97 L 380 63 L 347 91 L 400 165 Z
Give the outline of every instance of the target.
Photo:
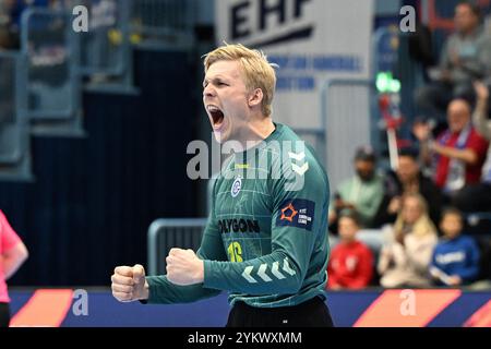
M 430 178 L 422 174 L 416 151 L 407 148 L 399 152 L 398 166 L 394 174 L 387 176 L 387 179 L 392 178 L 391 186 L 395 186 L 396 190 L 386 207 L 383 207 L 385 216 L 381 218 L 380 225 L 395 221 L 403 206 L 403 196 L 408 194 L 421 194 L 424 197 L 430 218 L 438 225 L 443 206 L 442 193 Z M 386 190 L 386 192 L 390 191 Z

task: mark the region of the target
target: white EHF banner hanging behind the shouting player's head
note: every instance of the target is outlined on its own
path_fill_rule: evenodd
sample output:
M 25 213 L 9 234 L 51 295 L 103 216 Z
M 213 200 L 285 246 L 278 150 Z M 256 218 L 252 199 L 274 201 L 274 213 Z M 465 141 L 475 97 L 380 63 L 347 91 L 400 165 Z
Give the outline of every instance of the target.
M 216 0 L 217 45 L 264 50 L 279 65 L 273 119 L 294 129 L 322 125 L 326 79 L 367 79 L 372 0 Z

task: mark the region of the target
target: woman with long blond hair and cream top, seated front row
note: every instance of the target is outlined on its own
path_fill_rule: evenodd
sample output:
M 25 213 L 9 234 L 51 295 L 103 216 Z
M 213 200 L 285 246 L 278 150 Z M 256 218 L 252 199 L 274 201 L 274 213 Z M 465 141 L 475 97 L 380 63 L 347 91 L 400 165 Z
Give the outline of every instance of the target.
M 378 272 L 383 287 L 428 287 L 428 266 L 438 242 L 436 228 L 428 216 L 424 198 L 408 194 L 382 248 Z

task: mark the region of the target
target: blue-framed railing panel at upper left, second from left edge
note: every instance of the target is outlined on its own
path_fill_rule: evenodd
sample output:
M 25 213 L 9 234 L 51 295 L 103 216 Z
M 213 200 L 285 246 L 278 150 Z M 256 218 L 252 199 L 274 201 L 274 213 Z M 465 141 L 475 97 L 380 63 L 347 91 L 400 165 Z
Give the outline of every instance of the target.
M 27 118 L 33 123 L 59 122 L 63 133 L 83 134 L 80 41 L 70 14 L 29 8 L 21 23 L 26 72 L 20 98 Z

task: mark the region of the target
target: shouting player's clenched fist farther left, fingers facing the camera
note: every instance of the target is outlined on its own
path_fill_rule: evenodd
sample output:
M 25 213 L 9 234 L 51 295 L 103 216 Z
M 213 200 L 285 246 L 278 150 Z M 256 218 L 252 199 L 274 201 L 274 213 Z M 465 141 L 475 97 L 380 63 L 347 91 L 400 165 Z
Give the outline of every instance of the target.
M 111 281 L 112 296 L 120 302 L 148 299 L 145 269 L 140 264 L 116 267 Z

